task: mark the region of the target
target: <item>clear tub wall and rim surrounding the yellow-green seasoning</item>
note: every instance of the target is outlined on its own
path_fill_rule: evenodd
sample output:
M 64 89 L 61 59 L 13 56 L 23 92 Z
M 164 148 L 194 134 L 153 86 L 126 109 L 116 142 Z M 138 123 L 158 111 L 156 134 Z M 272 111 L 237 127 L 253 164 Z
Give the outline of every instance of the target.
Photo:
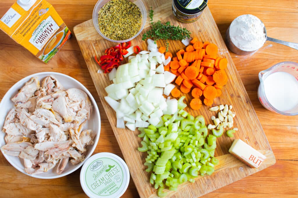
M 141 0 L 129 0 L 129 1 L 133 2 L 134 4 L 136 4 L 137 7 L 139 7 L 139 9 L 141 11 L 141 14 L 142 14 L 142 25 L 141 25 L 141 28 L 140 28 L 139 32 L 136 33 L 136 35 L 134 35 L 133 37 L 128 38 L 126 40 L 113 40 L 113 39 L 110 39 L 110 38 L 106 37 L 105 35 L 103 35 L 103 33 L 100 32 L 99 25 L 98 25 L 98 11 L 108 1 L 110 1 L 110 0 L 99 0 L 99 1 L 97 1 L 97 3 L 94 6 L 92 19 L 93 19 L 93 24 L 94 24 L 94 27 L 95 27 L 96 31 L 100 34 L 100 36 L 102 36 L 106 40 L 109 40 L 109 41 L 112 41 L 112 42 L 116 42 L 116 43 L 124 43 L 124 42 L 128 42 L 128 41 L 136 38 L 136 36 L 138 36 L 142 32 L 142 30 L 144 29 L 144 26 L 145 26 L 145 23 L 146 23 L 146 19 L 147 19 L 147 11 L 146 11 L 146 8 L 145 8 L 143 2 Z

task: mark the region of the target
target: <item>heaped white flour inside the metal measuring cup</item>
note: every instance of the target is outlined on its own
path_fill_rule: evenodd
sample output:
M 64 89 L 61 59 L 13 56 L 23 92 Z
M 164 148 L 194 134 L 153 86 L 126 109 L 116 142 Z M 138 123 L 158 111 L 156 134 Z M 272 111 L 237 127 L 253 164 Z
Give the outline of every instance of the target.
M 254 15 L 240 15 L 230 25 L 230 37 L 239 49 L 251 52 L 259 49 L 266 41 L 264 24 Z

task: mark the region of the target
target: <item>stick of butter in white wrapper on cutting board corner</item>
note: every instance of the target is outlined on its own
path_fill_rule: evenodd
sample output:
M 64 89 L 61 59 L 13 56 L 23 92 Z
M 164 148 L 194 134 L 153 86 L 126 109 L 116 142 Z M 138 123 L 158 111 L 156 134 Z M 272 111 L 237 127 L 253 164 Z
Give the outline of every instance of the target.
M 259 168 L 266 156 L 240 139 L 234 140 L 229 152 L 252 168 Z

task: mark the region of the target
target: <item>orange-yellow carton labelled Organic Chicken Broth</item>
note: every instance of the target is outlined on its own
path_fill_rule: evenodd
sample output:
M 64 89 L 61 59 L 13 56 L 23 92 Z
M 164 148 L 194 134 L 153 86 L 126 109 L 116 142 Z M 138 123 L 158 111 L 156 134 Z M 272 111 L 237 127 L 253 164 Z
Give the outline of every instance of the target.
M 17 0 L 0 19 L 0 29 L 44 63 L 71 36 L 53 6 L 45 0 Z

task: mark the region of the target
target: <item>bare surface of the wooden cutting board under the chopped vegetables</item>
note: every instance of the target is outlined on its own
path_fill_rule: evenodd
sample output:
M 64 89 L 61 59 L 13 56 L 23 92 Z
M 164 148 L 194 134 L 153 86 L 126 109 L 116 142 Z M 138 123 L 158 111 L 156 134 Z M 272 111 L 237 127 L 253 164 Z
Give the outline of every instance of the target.
M 201 41 L 209 41 L 218 46 L 218 56 L 226 57 L 229 63 L 226 69 L 229 81 L 222 89 L 223 93 L 221 97 L 216 98 L 212 106 L 220 104 L 233 105 L 232 110 L 236 112 L 233 127 L 238 127 L 239 129 L 234 138 L 228 138 L 224 134 L 221 138 L 217 139 L 218 146 L 215 150 L 215 156 L 219 159 L 220 163 L 218 166 L 215 166 L 215 172 L 211 176 L 198 177 L 195 183 L 187 182 L 179 185 L 178 191 L 168 191 L 168 196 L 200 197 L 273 165 L 275 163 L 274 154 L 209 8 L 205 8 L 198 21 L 186 24 L 178 22 L 173 16 L 171 9 L 172 1 L 147 0 L 144 4 L 147 10 L 150 10 L 151 6 L 153 7 L 154 21 L 170 21 L 171 24 L 186 27 L 192 32 L 192 36 L 197 36 Z M 144 33 L 149 26 L 149 19 L 147 19 L 145 29 L 142 33 Z M 147 166 L 144 166 L 144 162 L 147 153 L 141 153 L 137 150 L 137 148 L 141 146 L 141 138 L 137 137 L 139 131 L 136 130 L 132 132 L 127 129 L 116 128 L 116 113 L 104 100 L 104 97 L 107 95 L 104 88 L 110 85 L 111 81 L 108 80 L 107 74 L 97 73 L 99 66 L 94 61 L 94 55 L 100 57 L 104 54 L 105 49 L 115 46 L 117 43 L 102 38 L 95 30 L 92 19 L 75 26 L 74 33 L 140 197 L 157 197 L 156 190 L 149 183 L 150 174 L 145 172 Z M 142 33 L 132 40 L 131 44 L 134 46 L 139 45 L 141 49 L 145 50 L 147 47 L 146 42 L 142 41 Z M 158 46 L 165 46 L 162 41 L 158 41 L 157 44 Z M 183 48 L 185 48 L 185 46 L 180 41 L 170 42 L 169 49 L 173 54 Z M 186 94 L 186 96 L 187 104 L 189 104 L 191 96 L 188 94 Z M 198 111 L 191 110 L 188 107 L 186 110 L 193 116 L 203 115 L 206 120 L 206 125 L 213 123 L 210 117 L 215 115 L 215 113 L 209 111 L 208 107 L 204 105 Z M 267 159 L 262 163 L 259 169 L 252 169 L 229 154 L 228 150 L 233 140 L 239 138 L 266 155 Z

